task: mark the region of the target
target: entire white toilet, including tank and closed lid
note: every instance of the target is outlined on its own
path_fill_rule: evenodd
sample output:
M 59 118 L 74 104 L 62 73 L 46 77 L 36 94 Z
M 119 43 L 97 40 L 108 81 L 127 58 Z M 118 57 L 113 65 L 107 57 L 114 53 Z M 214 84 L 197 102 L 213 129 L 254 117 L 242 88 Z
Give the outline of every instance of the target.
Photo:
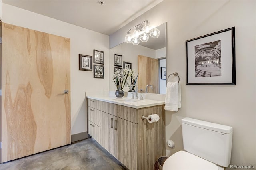
M 185 151 L 170 156 L 163 170 L 224 170 L 231 158 L 233 128 L 192 118 L 182 119 Z

